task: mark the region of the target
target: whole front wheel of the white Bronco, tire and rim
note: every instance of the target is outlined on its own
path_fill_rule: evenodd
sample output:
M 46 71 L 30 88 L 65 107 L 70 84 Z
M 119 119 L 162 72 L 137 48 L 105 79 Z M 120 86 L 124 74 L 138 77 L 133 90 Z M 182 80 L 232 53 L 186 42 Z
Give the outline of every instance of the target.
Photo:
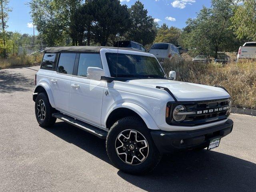
M 135 116 L 122 118 L 110 128 L 106 149 L 114 166 L 130 174 L 150 172 L 161 160 L 147 126 Z

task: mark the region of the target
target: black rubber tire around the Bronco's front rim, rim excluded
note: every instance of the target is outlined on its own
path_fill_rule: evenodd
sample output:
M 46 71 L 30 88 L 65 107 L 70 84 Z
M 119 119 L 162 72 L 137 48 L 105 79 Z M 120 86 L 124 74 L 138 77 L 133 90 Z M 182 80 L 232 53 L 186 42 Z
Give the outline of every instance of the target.
M 127 130 L 136 131 L 142 134 L 148 144 L 147 157 L 140 164 L 136 164 L 136 165 L 127 164 L 117 154 L 117 151 L 116 151 L 117 138 L 122 132 L 126 132 Z M 138 142 L 138 144 L 140 144 L 140 142 Z M 110 128 L 108 132 L 108 136 L 106 139 L 106 150 L 108 153 L 108 157 L 110 158 L 110 161 L 114 164 L 114 166 L 122 170 L 123 172 L 129 173 L 129 174 L 136 174 L 136 175 L 146 174 L 152 171 L 158 165 L 158 163 L 162 158 L 161 154 L 158 152 L 152 140 L 152 136 L 146 124 L 136 116 L 128 116 L 128 117 L 122 118 L 113 124 L 113 126 Z

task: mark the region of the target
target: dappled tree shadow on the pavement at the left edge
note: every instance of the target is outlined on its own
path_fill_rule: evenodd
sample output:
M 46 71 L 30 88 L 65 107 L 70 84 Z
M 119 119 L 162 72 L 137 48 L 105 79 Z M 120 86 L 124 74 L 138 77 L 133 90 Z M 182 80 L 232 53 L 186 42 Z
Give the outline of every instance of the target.
M 14 91 L 28 91 L 34 86 L 30 78 L 21 73 L 0 70 L 0 93 L 12 93 Z

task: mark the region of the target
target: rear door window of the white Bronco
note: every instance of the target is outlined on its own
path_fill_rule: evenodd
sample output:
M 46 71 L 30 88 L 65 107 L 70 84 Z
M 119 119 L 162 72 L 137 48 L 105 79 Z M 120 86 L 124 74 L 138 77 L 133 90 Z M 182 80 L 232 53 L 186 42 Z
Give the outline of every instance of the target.
M 75 60 L 76 53 L 61 53 L 57 67 L 57 72 L 72 75 Z

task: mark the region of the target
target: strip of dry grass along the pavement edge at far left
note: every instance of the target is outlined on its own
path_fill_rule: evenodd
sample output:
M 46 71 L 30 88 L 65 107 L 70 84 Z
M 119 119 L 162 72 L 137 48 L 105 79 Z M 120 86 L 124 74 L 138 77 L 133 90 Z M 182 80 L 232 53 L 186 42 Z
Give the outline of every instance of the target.
M 42 54 L 20 55 L 9 58 L 0 58 L 0 69 L 12 66 L 34 65 L 41 63 Z

